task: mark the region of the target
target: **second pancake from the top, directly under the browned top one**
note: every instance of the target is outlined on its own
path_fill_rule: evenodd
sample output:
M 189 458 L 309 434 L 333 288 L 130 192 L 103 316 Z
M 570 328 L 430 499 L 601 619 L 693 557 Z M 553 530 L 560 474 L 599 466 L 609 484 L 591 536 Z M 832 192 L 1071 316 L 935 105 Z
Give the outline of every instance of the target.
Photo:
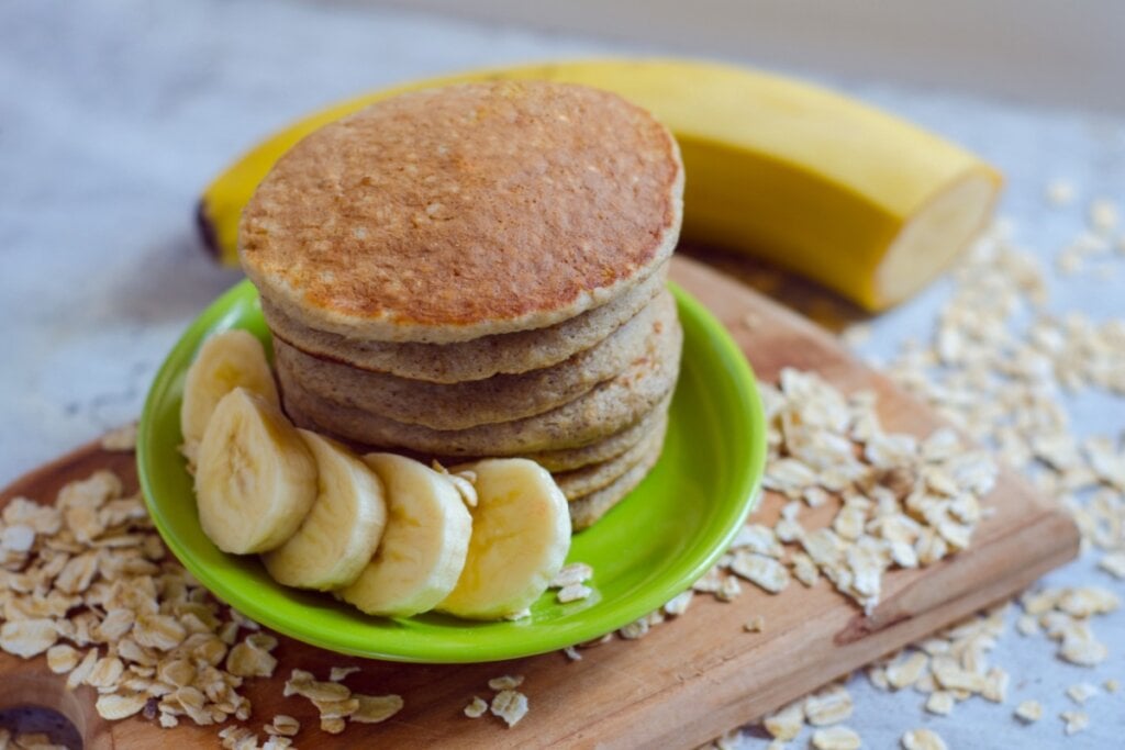
M 306 328 L 262 298 L 266 323 L 294 349 L 372 372 L 430 382 L 465 382 L 549 368 L 597 344 L 633 318 L 665 287 L 668 264 L 620 297 L 547 328 L 482 336 L 456 344 L 358 341 Z

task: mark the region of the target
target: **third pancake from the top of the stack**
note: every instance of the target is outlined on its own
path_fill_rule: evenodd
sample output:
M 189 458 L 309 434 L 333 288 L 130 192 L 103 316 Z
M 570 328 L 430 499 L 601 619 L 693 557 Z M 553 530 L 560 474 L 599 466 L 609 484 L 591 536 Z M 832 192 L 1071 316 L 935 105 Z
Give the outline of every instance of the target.
M 644 356 L 654 326 L 675 320 L 675 298 L 665 291 L 596 346 L 560 364 L 450 385 L 358 370 L 309 356 L 282 341 L 274 342 L 274 353 L 278 370 L 315 396 L 396 422 L 465 430 L 522 419 L 573 401 Z

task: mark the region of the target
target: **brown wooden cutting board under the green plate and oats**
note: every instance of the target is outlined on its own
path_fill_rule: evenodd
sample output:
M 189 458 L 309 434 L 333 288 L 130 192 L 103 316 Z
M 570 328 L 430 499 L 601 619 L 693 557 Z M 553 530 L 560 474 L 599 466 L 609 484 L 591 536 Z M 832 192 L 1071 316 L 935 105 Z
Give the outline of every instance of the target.
M 939 424 L 926 407 L 864 367 L 835 337 L 737 281 L 678 257 L 673 278 L 701 299 L 731 331 L 758 378 L 772 381 L 783 367 L 814 370 L 849 391 L 878 391 L 888 430 L 927 434 Z M 748 323 L 752 322 L 752 323 Z M 135 487 L 132 454 L 87 446 L 24 477 L 0 494 L 52 501 L 65 482 L 98 468 L 122 472 Z M 758 519 L 772 523 L 780 497 L 767 493 Z M 883 602 L 864 616 L 827 581 L 793 584 L 772 596 L 753 586 L 735 602 L 699 596 L 687 613 L 637 641 L 614 640 L 583 650 L 580 661 L 548 653 L 510 662 L 418 666 L 336 656 L 281 639 L 276 677 L 252 680 L 246 690 L 261 732 L 277 713 L 302 722 L 302 748 L 356 747 L 692 747 L 752 722 L 774 708 L 1032 584 L 1078 552 L 1068 515 L 1010 471 L 1000 475 L 986 505 L 996 514 L 976 531 L 972 546 L 925 570 L 900 570 L 884 580 Z M 806 512 L 807 527 L 827 524 L 831 505 Z M 763 633 L 742 624 L 764 615 Z M 304 698 L 284 698 L 294 667 L 327 676 L 330 667 L 359 665 L 348 684 L 361 693 L 398 693 L 406 707 L 378 725 L 351 724 L 338 737 L 318 730 Z M 87 748 L 147 748 L 177 742 L 215 747 L 214 726 L 181 724 L 161 730 L 135 716 L 107 723 L 93 711 L 94 693 L 69 693 L 42 657 L 22 661 L 0 654 L 0 708 L 40 705 L 73 721 Z M 461 710 L 474 695 L 487 697 L 489 678 L 524 675 L 521 688 L 531 712 L 515 728 L 493 716 L 471 721 Z

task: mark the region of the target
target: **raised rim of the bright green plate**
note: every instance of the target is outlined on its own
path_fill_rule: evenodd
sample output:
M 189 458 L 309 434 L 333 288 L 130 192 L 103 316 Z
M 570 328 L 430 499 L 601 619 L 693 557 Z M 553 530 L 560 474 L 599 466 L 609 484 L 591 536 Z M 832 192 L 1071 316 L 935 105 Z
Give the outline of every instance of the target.
M 669 589 L 674 589 L 677 593 L 686 590 L 706 573 L 730 546 L 739 528 L 745 525 L 747 517 L 757 506 L 762 495 L 762 479 L 766 460 L 765 416 L 754 371 L 727 328 L 702 302 L 675 281 L 669 280 L 667 286 L 676 297 L 677 305 L 687 308 L 700 326 L 708 333 L 708 340 L 713 347 L 719 350 L 720 358 L 732 365 L 735 372 L 723 373 L 723 377 L 728 377 L 734 382 L 735 391 L 747 401 L 747 406 L 749 407 L 745 414 L 749 455 L 746 457 L 745 468 L 736 482 L 738 491 L 742 495 L 744 499 L 732 508 L 730 512 L 731 519 L 722 535 L 705 554 L 694 559 L 690 566 L 683 566 L 682 569 L 674 569 L 672 581 L 667 581 L 662 586 L 649 586 L 639 594 L 628 597 L 627 602 L 616 605 L 601 603 L 598 607 L 603 605 L 610 606 L 608 611 L 598 613 L 598 617 L 596 618 L 596 623 L 598 624 L 596 626 L 583 629 L 578 624 L 566 629 L 558 629 L 558 635 L 551 638 L 551 633 L 544 633 L 543 636 L 537 639 L 532 648 L 519 648 L 519 644 L 523 643 L 522 639 L 512 639 L 512 642 L 515 644 L 514 647 L 474 647 L 470 650 L 466 650 L 464 647 L 454 645 L 441 653 L 435 653 L 435 651 L 441 651 L 440 648 L 435 648 L 438 643 L 428 644 L 424 652 L 418 651 L 418 649 L 393 648 L 387 650 L 385 645 L 382 648 L 352 648 L 348 644 L 341 644 L 339 641 L 322 638 L 318 631 L 323 629 L 306 630 L 299 622 L 288 621 L 280 616 L 273 617 L 269 609 L 259 606 L 256 599 L 244 596 L 238 591 L 236 586 L 228 586 L 224 582 L 224 576 L 213 575 L 206 563 L 197 561 L 195 555 L 187 549 L 187 543 L 181 542 L 174 533 L 171 524 L 169 524 L 169 519 L 160 509 L 159 504 L 153 500 L 155 488 L 153 487 L 153 478 L 148 472 L 147 464 L 150 461 L 158 460 L 158 457 L 150 451 L 151 439 L 156 430 L 154 425 L 155 413 L 158 412 L 156 404 L 164 396 L 170 383 L 181 374 L 182 367 L 173 367 L 173 363 L 179 362 L 184 356 L 189 356 L 199 346 L 202 336 L 208 329 L 222 327 L 224 325 L 223 317 L 230 315 L 231 308 L 237 307 L 241 298 L 248 291 L 256 298 L 258 290 L 253 288 L 249 279 L 243 279 L 232 286 L 199 313 L 183 331 L 172 349 L 169 350 L 148 388 L 141 421 L 137 426 L 136 450 L 137 478 L 148 515 L 153 519 L 153 524 L 162 541 L 176 557 L 177 561 L 217 599 L 278 633 L 336 653 L 407 663 L 480 663 L 557 651 L 575 643 L 598 638 L 604 633 L 613 632 L 629 622 L 662 607 L 670 598 L 665 595 L 665 591 Z M 228 325 L 227 327 L 231 326 Z M 628 616 L 621 613 L 626 613 Z M 613 616 L 614 614 L 618 616 Z M 605 623 L 615 624 L 608 626 Z M 567 633 L 576 630 L 580 632 L 580 636 L 567 635 Z M 482 650 L 484 650 L 484 653 L 480 652 Z

